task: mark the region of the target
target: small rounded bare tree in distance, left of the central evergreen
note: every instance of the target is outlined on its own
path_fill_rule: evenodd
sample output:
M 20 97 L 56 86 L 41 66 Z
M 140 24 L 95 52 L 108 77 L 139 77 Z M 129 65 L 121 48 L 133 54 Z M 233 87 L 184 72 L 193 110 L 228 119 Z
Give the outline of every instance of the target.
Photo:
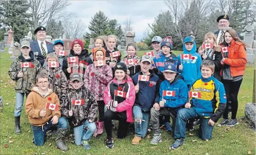
M 64 22 L 66 35 L 72 38 L 81 38 L 85 33 L 85 23 L 81 19 Z

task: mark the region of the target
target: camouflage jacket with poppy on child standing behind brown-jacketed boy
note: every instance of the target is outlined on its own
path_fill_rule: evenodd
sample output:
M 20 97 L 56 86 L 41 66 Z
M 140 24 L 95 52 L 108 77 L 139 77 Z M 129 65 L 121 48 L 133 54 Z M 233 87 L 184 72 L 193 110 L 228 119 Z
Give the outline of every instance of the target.
M 62 105 L 66 93 L 68 93 L 68 79 L 66 75 L 60 68 L 48 68 L 48 66 L 45 66 L 41 72 L 49 75 L 49 87 L 57 94 L 58 99 L 60 99 L 60 105 Z

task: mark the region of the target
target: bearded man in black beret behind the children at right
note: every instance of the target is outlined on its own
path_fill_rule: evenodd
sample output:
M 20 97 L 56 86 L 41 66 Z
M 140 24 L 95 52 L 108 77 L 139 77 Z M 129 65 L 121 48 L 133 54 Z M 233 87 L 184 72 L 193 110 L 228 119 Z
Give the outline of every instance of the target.
M 229 27 L 230 23 L 229 23 L 229 16 L 228 15 L 220 15 L 220 17 L 217 18 L 217 22 L 218 22 L 218 27 L 219 30 L 214 32 L 214 34 L 216 35 L 217 38 L 217 43 L 221 44 L 224 41 L 224 32 L 231 28 Z

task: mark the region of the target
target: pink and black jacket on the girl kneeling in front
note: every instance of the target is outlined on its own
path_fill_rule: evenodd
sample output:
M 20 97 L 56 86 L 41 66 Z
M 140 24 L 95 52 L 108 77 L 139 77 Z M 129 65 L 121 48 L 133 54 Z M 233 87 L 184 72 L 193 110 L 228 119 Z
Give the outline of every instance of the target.
M 128 80 L 123 80 L 118 84 L 114 78 L 109 82 L 107 88 L 104 91 L 104 103 L 107 105 L 109 100 L 113 100 L 115 96 L 115 90 L 126 92 L 126 97 L 115 96 L 115 100 L 118 102 L 116 112 L 126 111 L 127 122 L 133 122 L 132 106 L 135 102 L 135 86 L 132 83 L 132 79 L 128 77 Z M 128 88 L 127 88 L 128 87 Z

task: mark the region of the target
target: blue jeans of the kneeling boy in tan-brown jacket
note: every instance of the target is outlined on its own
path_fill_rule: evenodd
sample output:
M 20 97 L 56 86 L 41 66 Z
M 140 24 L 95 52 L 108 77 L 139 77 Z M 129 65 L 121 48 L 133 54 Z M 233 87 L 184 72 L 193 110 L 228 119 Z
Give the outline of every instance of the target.
M 42 146 L 45 143 L 45 134 L 46 132 L 50 129 L 50 127 L 54 127 L 57 125 L 59 129 L 65 130 L 68 128 L 68 121 L 64 117 L 60 117 L 58 119 L 57 124 L 52 124 L 52 119 L 46 122 L 45 125 L 43 126 L 34 126 L 31 125 L 31 129 L 33 130 L 34 133 L 34 144 L 36 146 Z

